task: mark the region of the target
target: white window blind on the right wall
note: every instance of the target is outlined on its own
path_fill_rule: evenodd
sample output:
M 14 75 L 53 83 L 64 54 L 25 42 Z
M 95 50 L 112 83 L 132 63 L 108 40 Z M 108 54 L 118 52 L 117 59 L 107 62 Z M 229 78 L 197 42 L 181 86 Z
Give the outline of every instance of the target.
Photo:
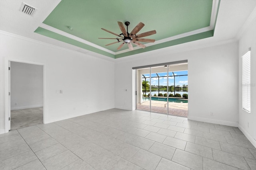
M 248 51 L 242 56 L 242 109 L 251 111 L 251 88 L 250 88 L 250 70 L 251 70 L 251 52 Z

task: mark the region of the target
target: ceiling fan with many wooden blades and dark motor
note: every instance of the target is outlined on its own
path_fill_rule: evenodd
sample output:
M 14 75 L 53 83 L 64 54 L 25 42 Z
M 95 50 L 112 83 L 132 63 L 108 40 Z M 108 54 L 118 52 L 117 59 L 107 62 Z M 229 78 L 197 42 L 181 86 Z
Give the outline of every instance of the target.
M 126 21 L 124 23 L 127 27 L 126 30 L 125 30 L 124 24 L 122 22 L 118 21 L 117 23 L 122 31 L 122 33 L 120 33 L 119 35 L 111 32 L 111 31 L 108 31 L 107 29 L 102 28 L 104 31 L 107 31 L 107 32 L 112 33 L 119 37 L 119 38 L 99 38 L 99 39 L 116 39 L 117 40 L 116 42 L 107 44 L 106 46 L 122 42 L 121 45 L 119 45 L 119 47 L 117 48 L 117 50 L 121 49 L 125 43 L 128 44 L 128 47 L 130 50 L 133 50 L 132 44 L 135 44 L 138 47 L 142 47 L 142 48 L 146 47 L 146 45 L 141 44 L 138 41 L 147 42 L 147 43 L 155 42 L 154 39 L 146 39 L 146 38 L 142 38 L 142 37 L 146 37 L 146 36 L 155 34 L 156 30 L 152 30 L 152 31 L 148 31 L 148 32 L 136 35 L 136 33 L 138 33 L 140 31 L 140 29 L 142 29 L 142 27 L 144 27 L 144 23 L 142 23 L 142 22 L 138 23 L 138 25 L 136 25 L 136 27 L 134 27 L 134 29 L 132 30 L 131 33 L 128 33 L 128 26 L 130 25 L 130 22 Z

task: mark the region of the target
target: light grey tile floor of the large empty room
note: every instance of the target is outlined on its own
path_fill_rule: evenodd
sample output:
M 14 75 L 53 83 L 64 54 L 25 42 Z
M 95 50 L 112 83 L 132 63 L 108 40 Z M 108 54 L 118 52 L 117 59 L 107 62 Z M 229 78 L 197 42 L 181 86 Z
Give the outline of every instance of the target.
M 237 127 L 110 109 L 0 135 L 1 170 L 255 170 Z

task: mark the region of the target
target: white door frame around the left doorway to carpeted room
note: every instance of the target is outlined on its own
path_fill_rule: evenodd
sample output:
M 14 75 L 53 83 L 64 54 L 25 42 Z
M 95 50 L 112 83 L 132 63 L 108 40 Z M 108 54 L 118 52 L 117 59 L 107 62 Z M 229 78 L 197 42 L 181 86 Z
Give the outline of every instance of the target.
M 5 62 L 5 133 L 8 133 L 10 130 L 11 121 L 9 120 L 11 114 L 11 104 L 10 104 L 10 62 L 26 63 L 26 64 L 35 64 L 43 66 L 43 123 L 46 122 L 46 64 L 38 63 L 33 61 L 19 60 L 19 59 L 6 59 Z M 10 68 L 12 69 L 12 68 Z M 12 94 L 10 94 L 12 95 Z

